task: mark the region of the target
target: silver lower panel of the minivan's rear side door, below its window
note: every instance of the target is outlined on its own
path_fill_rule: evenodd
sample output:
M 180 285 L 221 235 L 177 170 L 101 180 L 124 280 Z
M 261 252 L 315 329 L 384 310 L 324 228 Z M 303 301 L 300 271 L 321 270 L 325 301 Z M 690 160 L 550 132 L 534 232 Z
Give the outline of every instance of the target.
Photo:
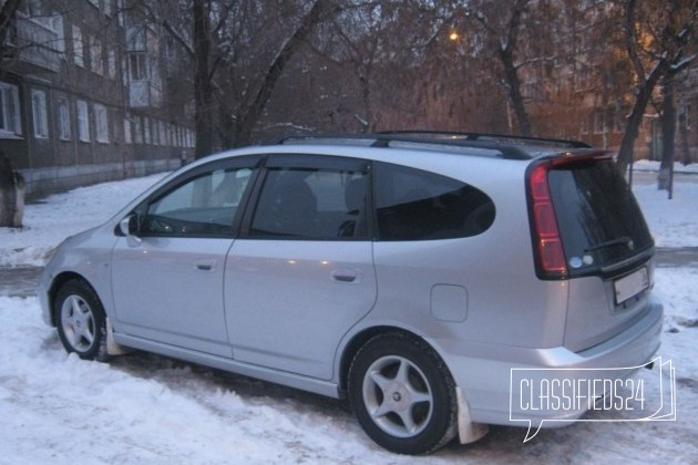
M 338 341 L 376 293 L 370 241 L 238 239 L 225 273 L 235 360 L 336 379 Z

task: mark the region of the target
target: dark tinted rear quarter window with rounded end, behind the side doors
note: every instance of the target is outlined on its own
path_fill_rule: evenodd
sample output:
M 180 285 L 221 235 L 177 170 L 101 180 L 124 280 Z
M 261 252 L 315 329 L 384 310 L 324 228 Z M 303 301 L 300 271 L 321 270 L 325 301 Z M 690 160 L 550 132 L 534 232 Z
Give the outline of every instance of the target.
M 487 195 L 433 173 L 377 163 L 374 192 L 380 240 L 471 237 L 494 223 Z

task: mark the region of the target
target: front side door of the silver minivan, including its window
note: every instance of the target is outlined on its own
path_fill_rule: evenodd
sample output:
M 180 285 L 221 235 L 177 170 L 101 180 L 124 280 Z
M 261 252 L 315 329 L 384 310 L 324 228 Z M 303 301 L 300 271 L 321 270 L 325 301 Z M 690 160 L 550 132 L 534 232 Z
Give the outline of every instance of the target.
M 223 282 L 249 163 L 197 169 L 136 208 L 138 230 L 120 238 L 112 257 L 120 331 L 232 356 Z

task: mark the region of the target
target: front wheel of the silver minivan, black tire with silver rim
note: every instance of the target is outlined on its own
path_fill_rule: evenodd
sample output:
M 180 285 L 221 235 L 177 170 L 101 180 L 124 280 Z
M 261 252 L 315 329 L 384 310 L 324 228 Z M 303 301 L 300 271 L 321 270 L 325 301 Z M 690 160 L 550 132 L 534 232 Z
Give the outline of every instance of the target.
M 68 352 L 85 360 L 109 360 L 104 308 L 90 285 L 81 279 L 65 282 L 55 296 L 53 312 Z

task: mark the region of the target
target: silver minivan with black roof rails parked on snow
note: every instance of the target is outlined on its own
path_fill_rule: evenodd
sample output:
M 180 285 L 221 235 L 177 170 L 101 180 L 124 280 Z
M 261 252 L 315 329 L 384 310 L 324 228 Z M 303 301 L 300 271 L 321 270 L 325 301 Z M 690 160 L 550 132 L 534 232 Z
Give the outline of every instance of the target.
M 40 299 L 83 359 L 137 349 L 348 399 L 376 443 L 424 454 L 589 409 L 521 412 L 515 369 L 647 364 L 653 255 L 614 161 L 582 143 L 302 136 L 168 175 L 66 239 Z

